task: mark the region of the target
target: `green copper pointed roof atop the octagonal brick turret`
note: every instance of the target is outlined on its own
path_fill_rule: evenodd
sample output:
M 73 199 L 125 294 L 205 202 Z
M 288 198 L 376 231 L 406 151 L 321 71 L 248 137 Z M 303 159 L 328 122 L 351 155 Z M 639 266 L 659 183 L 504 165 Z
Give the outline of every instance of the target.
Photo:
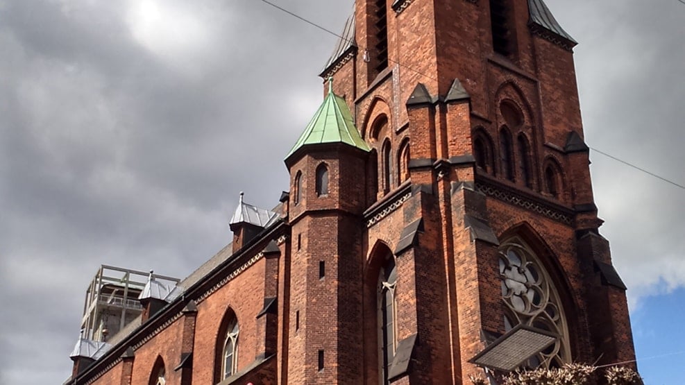
M 303 146 L 323 143 L 345 143 L 362 151 L 371 151 L 355 127 L 345 99 L 333 93 L 332 78 L 328 79 L 328 95 L 285 159 Z

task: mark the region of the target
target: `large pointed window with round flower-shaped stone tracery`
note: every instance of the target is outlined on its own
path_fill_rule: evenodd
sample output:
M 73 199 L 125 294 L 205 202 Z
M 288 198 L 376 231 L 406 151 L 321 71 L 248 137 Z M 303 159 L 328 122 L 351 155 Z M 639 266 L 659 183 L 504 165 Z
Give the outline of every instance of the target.
M 518 237 L 502 242 L 499 249 L 505 330 L 523 324 L 559 336 L 557 341 L 531 357 L 525 366 L 557 368 L 570 362 L 568 326 L 554 282 L 539 258 Z

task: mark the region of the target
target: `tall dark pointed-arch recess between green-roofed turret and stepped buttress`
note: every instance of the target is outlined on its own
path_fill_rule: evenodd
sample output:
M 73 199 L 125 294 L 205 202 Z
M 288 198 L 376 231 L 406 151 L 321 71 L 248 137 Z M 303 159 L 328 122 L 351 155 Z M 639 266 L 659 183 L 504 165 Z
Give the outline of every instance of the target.
M 378 378 L 380 384 L 389 384 L 397 347 L 397 282 L 395 256 L 387 243 L 376 241 L 364 269 L 364 314 L 369 314 L 364 318 L 364 361 L 366 378 Z

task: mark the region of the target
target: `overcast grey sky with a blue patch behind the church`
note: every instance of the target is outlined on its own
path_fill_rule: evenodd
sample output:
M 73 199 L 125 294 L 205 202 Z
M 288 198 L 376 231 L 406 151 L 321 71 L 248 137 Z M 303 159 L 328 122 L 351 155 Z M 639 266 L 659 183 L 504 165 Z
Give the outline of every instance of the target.
M 332 31 L 352 10 L 275 2 Z M 580 42 L 589 146 L 685 185 L 685 4 L 547 3 Z M 1 384 L 69 377 L 100 264 L 185 277 L 228 243 L 239 191 L 277 203 L 335 41 L 256 0 L 0 0 Z M 685 189 L 591 160 L 641 357 L 666 339 L 641 309 L 685 323 Z

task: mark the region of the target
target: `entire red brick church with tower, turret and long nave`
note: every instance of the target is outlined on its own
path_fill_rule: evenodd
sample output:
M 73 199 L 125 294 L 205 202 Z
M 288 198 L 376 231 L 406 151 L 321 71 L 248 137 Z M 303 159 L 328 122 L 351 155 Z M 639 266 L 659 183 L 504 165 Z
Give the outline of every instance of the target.
M 543 0 L 357 0 L 341 36 L 280 204 L 241 196 L 232 243 L 184 280 L 94 285 L 92 309 L 106 287 L 139 310 L 84 318 L 65 384 L 469 384 L 634 360 L 576 42 Z

